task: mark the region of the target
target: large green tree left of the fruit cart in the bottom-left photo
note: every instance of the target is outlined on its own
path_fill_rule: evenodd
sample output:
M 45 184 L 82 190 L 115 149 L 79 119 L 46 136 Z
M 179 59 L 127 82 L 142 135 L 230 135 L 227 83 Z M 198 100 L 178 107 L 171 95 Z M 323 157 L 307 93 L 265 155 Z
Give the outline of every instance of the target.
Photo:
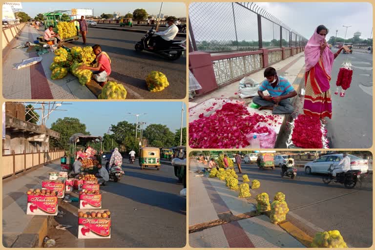
M 63 148 L 65 151 L 69 150 L 69 138 L 75 133 L 83 133 L 90 135 L 86 131 L 86 125 L 81 123 L 78 118 L 64 117 L 59 118 L 52 123 L 51 129 L 60 133 L 60 139 L 51 139 L 51 145 L 58 148 Z

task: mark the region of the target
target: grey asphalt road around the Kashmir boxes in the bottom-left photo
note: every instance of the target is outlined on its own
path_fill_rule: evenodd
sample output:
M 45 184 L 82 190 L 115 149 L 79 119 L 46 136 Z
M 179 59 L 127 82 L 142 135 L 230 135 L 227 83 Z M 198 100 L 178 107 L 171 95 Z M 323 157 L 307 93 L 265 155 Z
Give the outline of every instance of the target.
M 50 229 L 58 248 L 182 248 L 186 245 L 186 198 L 171 165 L 141 170 L 124 160 L 125 176 L 101 187 L 102 209 L 112 212 L 111 239 L 77 238 L 77 203 L 63 203 L 67 214 L 57 219 L 73 228 Z

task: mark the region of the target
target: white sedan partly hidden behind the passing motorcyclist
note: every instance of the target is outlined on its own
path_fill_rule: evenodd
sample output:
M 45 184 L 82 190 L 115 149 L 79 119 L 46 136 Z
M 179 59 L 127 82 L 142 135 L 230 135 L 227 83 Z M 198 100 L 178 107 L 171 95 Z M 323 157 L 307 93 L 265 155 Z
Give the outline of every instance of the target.
M 362 158 L 356 157 L 354 155 L 349 154 L 350 158 L 350 169 L 358 169 L 361 170 L 361 173 L 367 173 L 369 170 L 369 165 L 367 160 L 363 160 Z M 329 154 L 319 157 L 315 161 L 309 162 L 305 164 L 305 173 L 324 173 L 328 174 L 328 169 L 333 165 L 337 166 L 340 161 L 342 160 L 342 154 Z

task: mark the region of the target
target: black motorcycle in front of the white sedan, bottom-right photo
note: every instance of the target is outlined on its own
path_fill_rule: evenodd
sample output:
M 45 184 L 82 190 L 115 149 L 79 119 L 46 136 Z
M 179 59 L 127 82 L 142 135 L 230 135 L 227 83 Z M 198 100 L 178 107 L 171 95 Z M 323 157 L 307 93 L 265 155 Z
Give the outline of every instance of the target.
M 331 165 L 331 167 L 328 168 L 328 175 L 323 176 L 323 183 L 330 184 L 331 181 L 333 181 L 334 179 L 332 175 L 333 169 L 336 169 L 334 168 L 333 165 Z M 343 184 L 344 187 L 351 189 L 355 187 L 360 177 L 361 177 L 361 170 L 351 169 L 351 170 L 348 170 L 347 172 L 337 173 L 336 179 L 334 180 L 334 182 Z

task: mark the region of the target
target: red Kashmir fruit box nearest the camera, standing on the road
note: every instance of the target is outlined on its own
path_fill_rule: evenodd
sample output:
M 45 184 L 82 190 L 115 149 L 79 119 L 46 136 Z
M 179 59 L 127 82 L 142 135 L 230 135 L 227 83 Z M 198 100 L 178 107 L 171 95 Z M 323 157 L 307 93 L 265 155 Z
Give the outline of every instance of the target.
M 106 210 L 78 209 L 78 214 L 83 212 L 103 213 Z M 84 218 L 78 217 L 78 238 L 79 239 L 110 239 L 111 238 L 111 218 Z

